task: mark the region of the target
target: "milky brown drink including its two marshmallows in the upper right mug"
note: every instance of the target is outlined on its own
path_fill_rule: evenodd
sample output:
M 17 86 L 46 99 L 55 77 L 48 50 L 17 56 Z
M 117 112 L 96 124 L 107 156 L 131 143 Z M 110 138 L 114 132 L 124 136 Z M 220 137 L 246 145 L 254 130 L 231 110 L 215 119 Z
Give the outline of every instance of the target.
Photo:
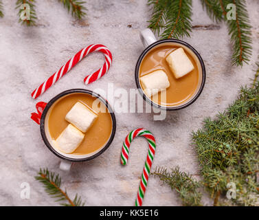
M 192 55 L 181 45 L 161 44 L 144 56 L 139 82 L 153 102 L 170 107 L 189 100 L 199 84 L 199 69 Z M 150 89 L 158 89 L 151 92 Z M 166 92 L 166 96 L 163 93 Z M 164 98 L 166 97 L 166 98 Z

